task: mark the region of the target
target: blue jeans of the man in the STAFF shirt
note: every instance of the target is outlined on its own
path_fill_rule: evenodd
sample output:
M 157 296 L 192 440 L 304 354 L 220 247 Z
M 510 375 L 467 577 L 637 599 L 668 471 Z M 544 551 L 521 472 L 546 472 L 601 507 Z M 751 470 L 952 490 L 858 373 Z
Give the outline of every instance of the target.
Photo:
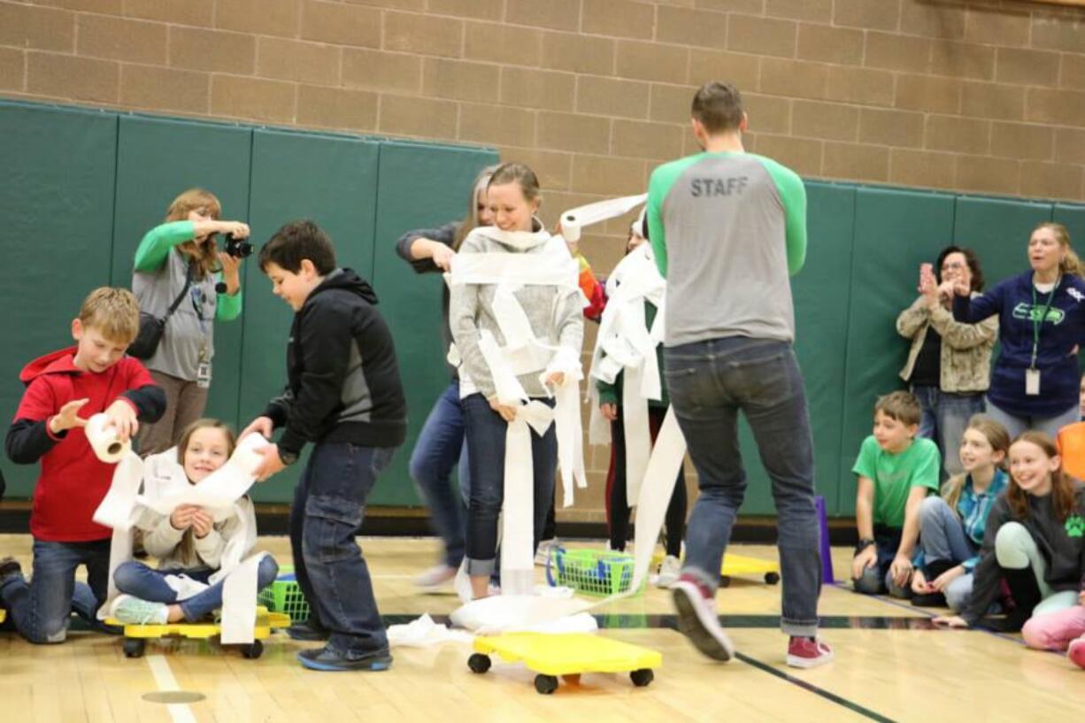
M 701 494 L 686 533 L 684 573 L 710 589 L 745 496 L 739 411 L 753 430 L 773 482 L 783 583 L 783 632 L 817 632 L 821 588 L 814 508 L 814 441 L 802 375 L 791 344 L 731 337 L 664 351 L 664 376 Z

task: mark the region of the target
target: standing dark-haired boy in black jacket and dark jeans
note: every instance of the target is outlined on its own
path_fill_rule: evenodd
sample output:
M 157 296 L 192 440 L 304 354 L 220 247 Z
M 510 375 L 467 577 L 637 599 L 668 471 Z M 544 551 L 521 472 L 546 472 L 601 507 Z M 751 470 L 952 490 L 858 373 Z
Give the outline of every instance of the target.
M 290 544 L 309 620 L 295 639 L 327 639 L 303 650 L 312 670 L 387 670 L 388 642 L 376 610 L 369 569 L 354 535 L 366 497 L 407 432 L 392 334 L 374 308 L 376 294 L 335 264 L 331 239 L 315 223 L 286 224 L 260 249 L 260 270 L 272 292 L 294 309 L 286 344 L 288 384 L 241 436 L 271 437 L 260 480 L 316 446 L 294 492 Z

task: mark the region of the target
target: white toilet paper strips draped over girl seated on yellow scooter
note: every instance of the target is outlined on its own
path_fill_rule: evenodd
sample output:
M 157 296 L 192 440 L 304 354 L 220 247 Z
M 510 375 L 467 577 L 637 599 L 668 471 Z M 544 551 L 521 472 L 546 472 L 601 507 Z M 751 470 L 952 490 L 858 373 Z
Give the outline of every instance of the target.
M 256 542 L 256 518 L 251 503 L 242 499 L 255 482 L 255 471 L 263 460 L 260 449 L 268 442 L 259 434 L 242 440 L 230 459 L 199 484 L 191 484 L 184 469 L 177 461 L 177 449 L 141 460 L 129 453 L 117 465 L 113 483 L 105 498 L 94 511 L 94 521 L 113 528 L 110 548 L 108 599 L 98 612 L 104 619 L 118 591 L 113 581 L 117 567 L 131 559 L 132 527 L 140 523 L 151 510 L 168 516 L 180 505 L 196 505 L 206 509 L 220 522 L 237 516 L 240 525 L 227 542 L 219 570 L 210 583 L 225 580 L 222 587 L 221 640 L 228 645 L 253 642 L 253 621 L 256 617 L 256 578 L 265 553 L 244 558 Z M 139 494 L 140 486 L 143 494 Z M 154 516 L 157 518 L 157 516 Z M 186 575 L 168 575 L 166 583 L 187 599 L 206 589 Z

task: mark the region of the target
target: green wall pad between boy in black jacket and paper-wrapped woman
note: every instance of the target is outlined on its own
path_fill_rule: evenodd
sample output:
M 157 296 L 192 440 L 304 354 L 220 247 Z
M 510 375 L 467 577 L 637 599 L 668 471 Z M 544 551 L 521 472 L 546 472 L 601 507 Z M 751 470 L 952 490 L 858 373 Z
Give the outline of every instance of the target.
M 441 334 L 444 282 L 438 274 L 416 274 L 396 254 L 396 241 L 411 229 L 462 218 L 475 175 L 496 162 L 496 153 L 481 149 L 381 144 L 373 277 L 381 313 L 396 342 L 409 427 L 407 443 L 381 474 L 373 504 L 420 504 L 407 462 L 430 408 L 449 382 L 448 350 L 443 347 Z

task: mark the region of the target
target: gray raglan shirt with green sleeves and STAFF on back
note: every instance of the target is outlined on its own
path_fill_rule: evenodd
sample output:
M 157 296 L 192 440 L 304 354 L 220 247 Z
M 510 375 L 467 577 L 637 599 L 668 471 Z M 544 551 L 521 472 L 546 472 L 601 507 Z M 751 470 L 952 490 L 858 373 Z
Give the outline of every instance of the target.
M 752 153 L 700 153 L 652 173 L 648 231 L 667 280 L 666 346 L 793 342 L 790 275 L 806 259 L 806 190 Z

